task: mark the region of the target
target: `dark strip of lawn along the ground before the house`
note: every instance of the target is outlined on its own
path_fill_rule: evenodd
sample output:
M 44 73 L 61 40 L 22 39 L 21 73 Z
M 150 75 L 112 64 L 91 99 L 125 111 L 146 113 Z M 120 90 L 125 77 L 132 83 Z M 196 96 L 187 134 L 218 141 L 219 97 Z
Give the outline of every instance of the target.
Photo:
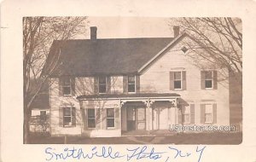
M 31 136 L 32 144 L 63 144 L 63 136 Z M 240 144 L 240 133 L 181 133 L 173 136 L 122 136 L 88 138 L 68 136 L 67 144 Z

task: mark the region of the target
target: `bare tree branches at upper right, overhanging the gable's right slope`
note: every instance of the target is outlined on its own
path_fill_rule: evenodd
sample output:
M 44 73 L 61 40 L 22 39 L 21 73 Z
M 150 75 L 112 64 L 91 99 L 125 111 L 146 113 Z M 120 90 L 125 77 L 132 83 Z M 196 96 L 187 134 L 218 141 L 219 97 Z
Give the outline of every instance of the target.
M 179 18 L 170 20 L 178 24 L 195 40 L 189 43 L 190 49 L 205 49 L 197 53 L 219 67 L 227 67 L 230 72 L 242 74 L 242 32 L 241 19 L 218 18 Z

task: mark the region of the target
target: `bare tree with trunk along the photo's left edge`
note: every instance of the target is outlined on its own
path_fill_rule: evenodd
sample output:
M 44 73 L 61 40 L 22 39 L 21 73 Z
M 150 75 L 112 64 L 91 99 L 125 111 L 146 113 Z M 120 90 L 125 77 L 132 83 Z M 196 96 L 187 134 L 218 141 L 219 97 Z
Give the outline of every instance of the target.
M 85 31 L 87 17 L 24 17 L 23 18 L 23 142 L 29 140 L 29 119 L 32 101 L 48 83 L 51 72 L 58 66 L 59 55 L 49 65 L 49 71 L 41 75 L 53 40 L 67 40 Z M 32 81 L 35 83 L 32 86 Z

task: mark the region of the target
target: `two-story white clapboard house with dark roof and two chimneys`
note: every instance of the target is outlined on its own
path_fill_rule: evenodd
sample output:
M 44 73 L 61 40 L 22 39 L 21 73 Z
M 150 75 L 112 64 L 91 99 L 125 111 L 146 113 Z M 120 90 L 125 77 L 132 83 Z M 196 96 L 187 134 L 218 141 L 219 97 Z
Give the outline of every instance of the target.
M 43 69 L 51 136 L 229 125 L 228 70 L 197 56 L 207 50 L 190 49 L 193 38 L 173 30 L 174 38 L 99 39 L 92 26 L 90 39 L 54 41 Z

